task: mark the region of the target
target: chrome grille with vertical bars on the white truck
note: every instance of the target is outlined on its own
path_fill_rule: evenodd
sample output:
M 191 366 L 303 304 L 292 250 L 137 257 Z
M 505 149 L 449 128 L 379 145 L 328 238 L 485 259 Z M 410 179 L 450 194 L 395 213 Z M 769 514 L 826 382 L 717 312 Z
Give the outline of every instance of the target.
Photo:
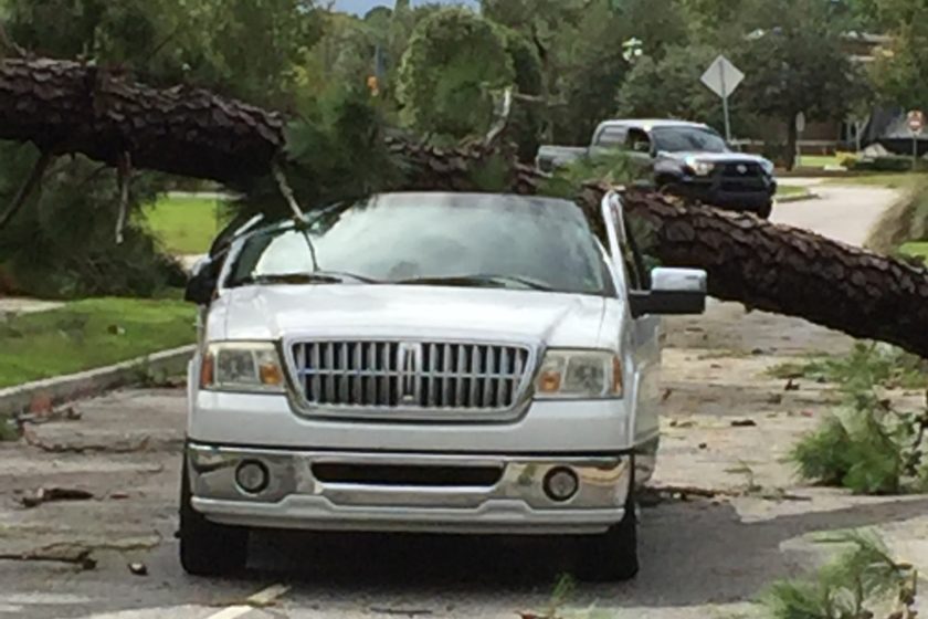
M 525 388 L 523 346 L 436 342 L 298 342 L 296 377 L 309 406 L 507 410 Z

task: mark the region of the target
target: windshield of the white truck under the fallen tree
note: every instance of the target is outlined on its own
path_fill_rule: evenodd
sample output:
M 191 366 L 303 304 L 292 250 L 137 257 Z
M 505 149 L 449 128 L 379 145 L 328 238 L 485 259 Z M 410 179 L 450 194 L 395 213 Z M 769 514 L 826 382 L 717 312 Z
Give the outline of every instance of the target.
M 587 220 L 565 200 L 392 193 L 331 208 L 310 221 L 309 243 L 292 225 L 245 239 L 228 285 L 351 281 L 612 291 Z M 297 276 L 313 272 L 344 277 Z

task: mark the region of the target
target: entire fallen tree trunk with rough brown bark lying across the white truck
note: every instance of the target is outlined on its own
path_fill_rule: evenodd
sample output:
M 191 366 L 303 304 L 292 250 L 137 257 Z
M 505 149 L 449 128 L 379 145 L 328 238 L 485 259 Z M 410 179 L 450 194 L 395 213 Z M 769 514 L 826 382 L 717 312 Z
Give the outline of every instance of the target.
M 43 153 L 81 153 L 109 165 L 240 185 L 266 176 L 281 157 L 284 118 L 196 88 L 157 90 L 67 61 L 0 62 L 0 139 Z M 439 149 L 402 138 L 388 146 L 405 189 L 468 190 L 497 144 Z M 508 155 L 506 155 L 508 157 Z M 534 193 L 541 175 L 508 165 L 508 189 Z M 578 201 L 599 217 L 602 186 Z M 637 190 L 630 214 L 654 229 L 653 253 L 667 265 L 709 273 L 709 292 L 758 310 L 799 316 L 928 357 L 928 271 L 748 214 L 687 208 Z

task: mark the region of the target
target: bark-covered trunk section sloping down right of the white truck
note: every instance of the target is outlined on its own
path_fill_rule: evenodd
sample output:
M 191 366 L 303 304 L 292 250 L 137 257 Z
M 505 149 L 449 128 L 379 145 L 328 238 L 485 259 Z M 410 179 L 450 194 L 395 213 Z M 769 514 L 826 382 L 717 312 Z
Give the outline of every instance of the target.
M 602 189 L 588 189 L 584 201 L 592 204 Z M 641 190 L 626 190 L 624 206 L 650 224 L 653 238 L 641 241 L 663 264 L 707 271 L 711 296 L 928 358 L 928 269 L 751 214 L 687 208 Z

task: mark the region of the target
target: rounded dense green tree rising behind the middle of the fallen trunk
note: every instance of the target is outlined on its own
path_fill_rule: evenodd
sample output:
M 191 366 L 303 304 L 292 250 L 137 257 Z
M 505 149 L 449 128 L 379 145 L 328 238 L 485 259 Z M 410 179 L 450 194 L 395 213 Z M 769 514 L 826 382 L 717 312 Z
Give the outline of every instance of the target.
M 422 133 L 463 138 L 486 132 L 494 93 L 515 82 L 506 41 L 466 9 L 445 9 L 414 30 L 400 66 L 402 118 Z

